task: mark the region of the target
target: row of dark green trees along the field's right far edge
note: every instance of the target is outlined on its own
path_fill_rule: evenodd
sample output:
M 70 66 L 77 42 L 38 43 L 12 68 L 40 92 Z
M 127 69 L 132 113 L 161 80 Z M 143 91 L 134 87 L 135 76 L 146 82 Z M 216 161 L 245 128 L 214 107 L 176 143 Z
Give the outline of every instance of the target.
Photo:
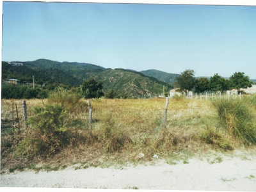
M 225 90 L 236 89 L 240 93 L 241 88 L 252 87 L 252 82 L 249 76 L 245 76 L 244 72 L 235 72 L 228 79 L 221 77 L 218 74 L 208 79 L 207 77 L 195 77 L 195 71 L 188 69 L 181 73 L 176 78 L 175 88 L 178 92 L 188 94 L 189 91 L 196 93 L 203 93 L 205 91 L 212 91 L 214 93 Z

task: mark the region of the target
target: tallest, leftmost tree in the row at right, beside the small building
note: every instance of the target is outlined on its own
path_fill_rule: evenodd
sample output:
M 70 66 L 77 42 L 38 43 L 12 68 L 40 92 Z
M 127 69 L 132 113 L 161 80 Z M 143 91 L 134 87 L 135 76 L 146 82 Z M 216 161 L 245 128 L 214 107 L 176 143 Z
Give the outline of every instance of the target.
M 195 71 L 188 69 L 181 73 L 179 77 L 176 77 L 175 86 L 179 88 L 179 92 L 186 92 L 187 94 L 195 86 Z

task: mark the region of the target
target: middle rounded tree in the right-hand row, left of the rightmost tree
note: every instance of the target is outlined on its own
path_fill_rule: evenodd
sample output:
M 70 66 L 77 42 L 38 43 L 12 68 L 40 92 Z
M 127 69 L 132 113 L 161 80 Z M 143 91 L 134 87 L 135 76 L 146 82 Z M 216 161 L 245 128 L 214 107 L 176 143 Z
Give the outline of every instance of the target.
M 225 79 L 224 77 L 219 76 L 218 74 L 214 74 L 210 78 L 209 81 L 209 90 L 212 90 L 214 93 L 220 91 L 223 93 L 224 90 L 230 89 L 230 83 L 228 79 Z

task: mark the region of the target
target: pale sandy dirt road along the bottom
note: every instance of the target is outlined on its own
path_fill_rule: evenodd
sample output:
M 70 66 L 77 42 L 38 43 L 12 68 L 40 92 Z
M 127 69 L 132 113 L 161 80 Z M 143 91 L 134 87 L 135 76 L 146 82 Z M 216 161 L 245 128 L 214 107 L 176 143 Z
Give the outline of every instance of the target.
M 218 163 L 216 157 L 223 161 Z M 172 165 L 162 159 L 155 164 L 122 168 L 68 167 L 52 172 L 4 173 L 1 187 L 256 191 L 256 154 L 194 157 L 188 159 L 188 164 L 179 161 Z

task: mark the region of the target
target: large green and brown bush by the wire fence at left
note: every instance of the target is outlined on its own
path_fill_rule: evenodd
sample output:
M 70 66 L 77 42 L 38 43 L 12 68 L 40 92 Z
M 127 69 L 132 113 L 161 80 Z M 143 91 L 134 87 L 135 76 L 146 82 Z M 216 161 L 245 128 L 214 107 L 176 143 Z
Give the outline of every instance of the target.
M 22 140 L 15 150 L 15 157 L 51 157 L 68 145 L 86 142 L 86 132 L 81 134 L 86 124 L 74 117 L 74 112 L 83 111 L 85 102 L 81 95 L 59 88 L 50 93 L 49 102 L 44 108 L 35 107 L 33 116 L 27 120 L 30 129 L 27 138 Z M 83 108 L 81 110 L 81 108 Z

